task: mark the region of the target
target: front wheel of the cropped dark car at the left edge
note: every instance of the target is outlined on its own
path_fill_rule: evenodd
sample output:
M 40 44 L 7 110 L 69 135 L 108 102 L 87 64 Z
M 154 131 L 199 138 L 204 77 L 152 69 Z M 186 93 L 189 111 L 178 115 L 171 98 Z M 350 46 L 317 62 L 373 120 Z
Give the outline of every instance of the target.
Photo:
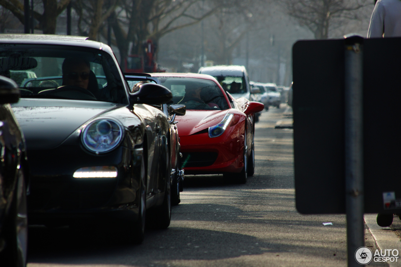
M 28 248 L 28 217 L 26 208 L 26 184 L 22 168 L 12 198 L 10 214 L 4 225 L 5 248 L 0 253 L 1 265 L 25 267 Z

